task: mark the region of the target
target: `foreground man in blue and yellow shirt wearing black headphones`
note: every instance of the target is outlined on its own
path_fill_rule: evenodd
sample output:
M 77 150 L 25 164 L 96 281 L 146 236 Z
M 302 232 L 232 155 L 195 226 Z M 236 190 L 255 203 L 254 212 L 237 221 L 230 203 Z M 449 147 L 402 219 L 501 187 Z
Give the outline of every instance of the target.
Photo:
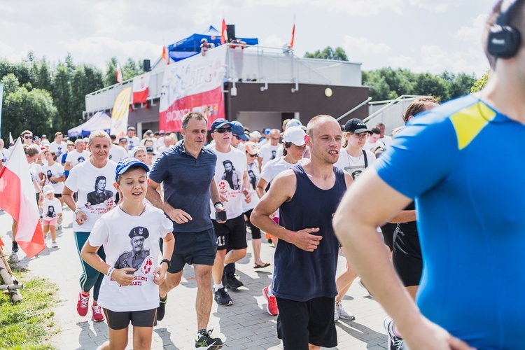
M 386 320 L 390 349 L 525 347 L 524 34 L 525 1 L 499 1 L 484 30 L 484 90 L 414 118 L 337 209 L 346 257 L 395 321 Z M 496 146 L 503 137 L 506 149 Z M 417 305 L 376 232 L 412 199 Z

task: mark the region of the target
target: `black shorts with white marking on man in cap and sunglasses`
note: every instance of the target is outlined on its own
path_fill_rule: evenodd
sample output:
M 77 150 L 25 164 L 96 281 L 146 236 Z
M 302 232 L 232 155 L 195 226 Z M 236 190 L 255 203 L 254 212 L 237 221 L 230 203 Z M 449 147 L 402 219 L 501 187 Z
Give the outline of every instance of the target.
M 217 237 L 217 250 L 221 251 L 228 248 L 228 251 L 235 249 L 245 249 L 246 244 L 246 221 L 244 214 L 227 220 L 225 223 L 214 223 L 215 235 Z

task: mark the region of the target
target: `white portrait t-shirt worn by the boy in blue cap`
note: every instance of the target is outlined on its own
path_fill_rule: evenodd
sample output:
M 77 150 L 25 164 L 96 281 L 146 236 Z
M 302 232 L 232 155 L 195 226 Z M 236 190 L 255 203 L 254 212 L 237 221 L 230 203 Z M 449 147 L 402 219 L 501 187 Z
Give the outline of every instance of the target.
M 88 238 L 92 246 L 104 246 L 106 263 L 111 267 L 136 269 L 130 286 L 122 287 L 104 276 L 97 302 L 105 309 L 143 311 L 159 306 L 159 286 L 153 282 L 153 272 L 160 262 L 159 239 L 173 231 L 173 223 L 160 209 L 145 206 L 139 216 L 128 215 L 120 207 L 104 214 Z

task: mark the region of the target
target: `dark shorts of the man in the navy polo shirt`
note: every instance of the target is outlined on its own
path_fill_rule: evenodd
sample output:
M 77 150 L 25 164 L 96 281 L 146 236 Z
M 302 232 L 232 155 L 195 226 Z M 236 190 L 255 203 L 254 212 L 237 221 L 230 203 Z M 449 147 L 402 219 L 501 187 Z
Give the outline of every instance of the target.
M 201 232 L 173 232 L 175 248 L 167 272 L 181 272 L 184 265 L 213 266 L 217 255 L 217 239 L 213 228 Z

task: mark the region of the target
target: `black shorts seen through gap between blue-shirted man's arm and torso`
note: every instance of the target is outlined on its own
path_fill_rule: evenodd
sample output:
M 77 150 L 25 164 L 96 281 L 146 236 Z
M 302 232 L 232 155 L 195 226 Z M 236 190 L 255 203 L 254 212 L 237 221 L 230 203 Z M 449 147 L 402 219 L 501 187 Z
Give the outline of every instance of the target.
M 419 286 L 421 272 L 423 271 L 423 259 L 421 258 L 421 246 L 417 234 L 405 233 L 399 228 L 395 230 L 392 262 L 405 287 Z

